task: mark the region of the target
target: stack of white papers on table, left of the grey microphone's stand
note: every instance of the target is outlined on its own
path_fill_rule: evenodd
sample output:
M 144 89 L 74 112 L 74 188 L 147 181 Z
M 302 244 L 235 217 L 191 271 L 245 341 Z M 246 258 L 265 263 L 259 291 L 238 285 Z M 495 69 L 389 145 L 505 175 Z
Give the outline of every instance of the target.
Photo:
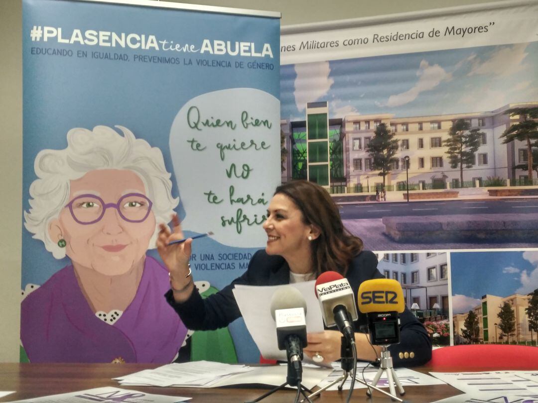
M 246 365 L 193 361 L 167 364 L 114 379 L 119 380 L 119 384 L 124 386 L 213 387 L 223 378 L 250 370 L 251 368 Z

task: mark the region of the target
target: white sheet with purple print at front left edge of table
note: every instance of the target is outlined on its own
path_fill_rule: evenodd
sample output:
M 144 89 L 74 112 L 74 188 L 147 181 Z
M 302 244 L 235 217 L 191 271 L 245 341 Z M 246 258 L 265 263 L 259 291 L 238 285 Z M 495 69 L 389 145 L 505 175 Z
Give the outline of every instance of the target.
M 129 401 L 130 403 L 179 403 L 192 398 L 150 394 L 117 387 L 97 387 L 79 392 L 55 394 L 42 398 L 17 400 L 11 403 L 88 403 L 89 401 Z

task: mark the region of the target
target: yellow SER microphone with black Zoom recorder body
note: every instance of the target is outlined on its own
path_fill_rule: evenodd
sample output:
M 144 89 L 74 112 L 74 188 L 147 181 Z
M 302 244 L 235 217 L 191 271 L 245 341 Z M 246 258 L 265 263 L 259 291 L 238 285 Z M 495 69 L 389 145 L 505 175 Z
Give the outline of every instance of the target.
M 397 280 L 376 278 L 359 286 L 359 311 L 367 314 L 372 344 L 386 346 L 400 342 L 398 313 L 404 312 L 404 291 Z

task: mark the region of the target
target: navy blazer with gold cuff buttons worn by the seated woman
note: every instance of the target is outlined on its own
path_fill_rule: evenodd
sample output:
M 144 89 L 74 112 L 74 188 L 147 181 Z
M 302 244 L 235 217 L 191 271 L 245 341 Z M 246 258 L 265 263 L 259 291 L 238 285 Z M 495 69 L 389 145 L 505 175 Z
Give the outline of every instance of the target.
M 377 262 L 376 255 L 366 250 L 353 258 L 345 277 L 355 295 L 363 281 L 384 278 L 377 270 Z M 169 290 L 165 297 L 189 329 L 215 330 L 228 326 L 241 316 L 232 292 L 236 284 L 289 284 L 289 266 L 282 256 L 267 255 L 265 250 L 261 249 L 252 256 L 244 274 L 221 291 L 202 299 L 195 288 L 184 303 L 175 302 L 172 290 Z M 357 305 L 356 299 L 355 304 Z M 359 313 L 359 318 L 355 321 L 356 331 L 364 329 L 366 324 L 366 315 Z M 422 365 L 431 359 L 431 342 L 426 329 L 407 308 L 400 315 L 400 340 L 400 344 L 389 348 L 394 366 Z M 408 358 L 405 358 L 406 352 Z

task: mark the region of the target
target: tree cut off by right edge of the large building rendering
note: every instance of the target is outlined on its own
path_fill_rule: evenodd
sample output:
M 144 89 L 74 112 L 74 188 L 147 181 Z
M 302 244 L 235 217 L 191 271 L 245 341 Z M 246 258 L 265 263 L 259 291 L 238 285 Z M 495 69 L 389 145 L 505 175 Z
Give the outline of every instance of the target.
M 508 127 L 500 138 L 503 144 L 514 140 L 525 141 L 527 143 L 527 171 L 529 183 L 533 182 L 533 153 L 532 140 L 538 140 L 538 107 L 532 108 L 512 108 L 508 109 L 506 114 L 511 117 L 519 116 L 520 121 Z

